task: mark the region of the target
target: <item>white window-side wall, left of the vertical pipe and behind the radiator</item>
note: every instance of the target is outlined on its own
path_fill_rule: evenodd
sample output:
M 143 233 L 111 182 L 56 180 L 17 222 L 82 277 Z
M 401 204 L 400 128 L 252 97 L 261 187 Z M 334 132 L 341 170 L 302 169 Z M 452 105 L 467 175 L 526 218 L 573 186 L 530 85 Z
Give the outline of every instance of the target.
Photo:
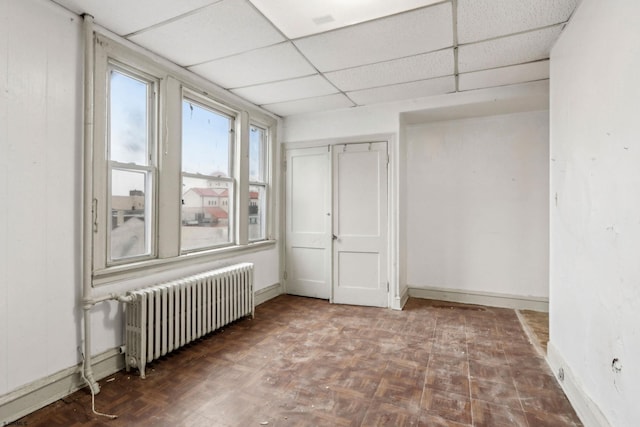
M 0 401 L 80 361 L 81 33 L 53 2 L 0 0 Z M 191 269 L 237 261 L 279 282 L 277 245 Z M 94 354 L 122 344 L 121 311 L 94 308 Z

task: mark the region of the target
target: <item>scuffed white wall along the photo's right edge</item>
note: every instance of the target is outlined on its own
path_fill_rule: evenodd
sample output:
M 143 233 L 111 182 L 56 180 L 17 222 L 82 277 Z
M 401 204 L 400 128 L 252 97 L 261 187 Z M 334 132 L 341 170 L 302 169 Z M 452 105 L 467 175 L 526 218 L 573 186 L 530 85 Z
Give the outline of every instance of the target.
M 583 0 L 551 57 L 549 356 L 587 425 L 640 425 L 639 16 Z

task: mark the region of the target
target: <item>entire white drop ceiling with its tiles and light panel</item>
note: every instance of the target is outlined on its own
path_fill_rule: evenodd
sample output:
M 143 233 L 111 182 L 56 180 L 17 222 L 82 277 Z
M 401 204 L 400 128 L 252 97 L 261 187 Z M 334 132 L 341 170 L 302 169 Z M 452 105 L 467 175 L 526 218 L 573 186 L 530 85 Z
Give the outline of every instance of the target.
M 53 0 L 280 116 L 549 78 L 580 0 Z

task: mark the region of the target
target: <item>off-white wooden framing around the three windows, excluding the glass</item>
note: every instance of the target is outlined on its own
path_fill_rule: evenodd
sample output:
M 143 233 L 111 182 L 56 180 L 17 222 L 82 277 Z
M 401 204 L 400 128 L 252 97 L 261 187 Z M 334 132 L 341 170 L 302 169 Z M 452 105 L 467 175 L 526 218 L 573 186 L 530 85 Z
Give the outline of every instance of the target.
M 95 32 L 94 72 L 94 126 L 93 145 L 91 150 L 92 170 L 92 285 L 102 286 L 115 282 L 143 278 L 154 272 L 167 269 L 182 268 L 189 265 L 221 260 L 239 253 L 250 253 L 272 247 L 276 240 L 273 210 L 275 203 L 272 188 L 275 182 L 273 153 L 276 150 L 275 138 L 278 119 L 271 113 L 261 110 L 235 95 L 213 85 L 195 74 L 170 63 L 164 58 L 145 51 L 126 40 L 115 40 L 113 35 Z M 115 65 L 113 65 L 115 64 Z M 156 116 L 153 132 L 155 147 L 152 158 L 155 161 L 153 176 L 153 194 L 145 194 L 146 201 L 155 209 L 152 214 L 151 254 L 144 257 L 118 259 L 113 262 L 108 258 L 109 236 L 106 231 L 110 224 L 111 167 L 107 166 L 108 144 L 108 73 L 110 66 L 123 69 L 134 76 L 152 78 L 155 82 Z M 231 177 L 234 182 L 234 197 L 229 199 L 230 211 L 229 233 L 233 233 L 232 242 L 222 246 L 212 246 L 195 250 L 181 249 L 181 114 L 183 99 L 192 99 L 204 104 L 214 111 L 221 111 L 234 118 L 235 139 L 230 150 L 233 150 Z M 265 238 L 249 241 L 248 239 L 248 205 L 249 205 L 249 134 L 250 126 L 256 125 L 266 130 L 266 177 L 265 177 Z M 130 165 L 127 165 L 129 167 Z M 244 195 L 246 199 L 244 200 Z M 162 230 L 162 233 L 159 233 Z

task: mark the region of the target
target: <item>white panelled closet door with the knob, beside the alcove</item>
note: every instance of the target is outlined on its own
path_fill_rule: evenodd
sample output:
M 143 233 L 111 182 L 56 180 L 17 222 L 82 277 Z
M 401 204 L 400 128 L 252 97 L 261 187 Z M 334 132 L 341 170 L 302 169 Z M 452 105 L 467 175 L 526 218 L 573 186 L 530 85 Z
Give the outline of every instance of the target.
M 387 144 L 333 152 L 333 302 L 387 307 Z

